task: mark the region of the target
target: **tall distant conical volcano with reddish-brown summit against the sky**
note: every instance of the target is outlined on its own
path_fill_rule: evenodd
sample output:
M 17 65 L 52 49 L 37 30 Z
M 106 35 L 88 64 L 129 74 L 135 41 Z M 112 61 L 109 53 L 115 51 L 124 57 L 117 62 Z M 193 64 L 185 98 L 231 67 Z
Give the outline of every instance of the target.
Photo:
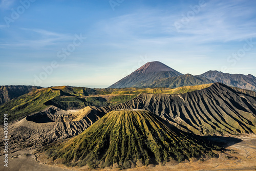
M 164 65 L 159 61 L 147 62 L 144 66 L 140 67 L 130 75 L 117 81 L 109 88 L 136 87 L 136 85 L 141 82 L 151 83 L 155 79 L 180 75 L 182 74 L 172 68 L 169 68 L 168 66 Z

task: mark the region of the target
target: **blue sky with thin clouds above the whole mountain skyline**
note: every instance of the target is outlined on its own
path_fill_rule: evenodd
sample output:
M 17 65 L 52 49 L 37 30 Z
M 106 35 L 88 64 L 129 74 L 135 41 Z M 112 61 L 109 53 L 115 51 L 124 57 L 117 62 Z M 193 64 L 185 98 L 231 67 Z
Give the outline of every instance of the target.
M 256 1 L 2 0 L 0 85 L 104 88 L 156 60 L 183 74 L 256 76 L 255 9 Z

